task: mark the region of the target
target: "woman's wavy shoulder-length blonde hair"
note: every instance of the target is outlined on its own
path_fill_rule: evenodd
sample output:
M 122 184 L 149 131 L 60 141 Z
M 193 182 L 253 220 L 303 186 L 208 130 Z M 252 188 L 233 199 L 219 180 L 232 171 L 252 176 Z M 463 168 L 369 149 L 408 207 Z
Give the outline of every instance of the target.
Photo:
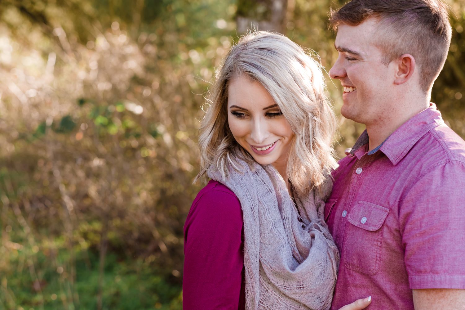
M 313 56 L 318 57 L 314 52 Z M 296 194 L 308 195 L 313 188 L 328 194 L 327 181 L 336 167 L 331 145 L 336 120 L 325 94 L 322 67 L 286 36 L 266 31 L 242 36 L 216 70 L 199 129 L 201 168 L 195 181 L 206 179 L 211 166 L 228 177 L 230 166 L 240 172 L 237 158 L 254 161 L 228 126 L 228 85 L 238 76 L 263 85 L 294 132 L 286 173 Z

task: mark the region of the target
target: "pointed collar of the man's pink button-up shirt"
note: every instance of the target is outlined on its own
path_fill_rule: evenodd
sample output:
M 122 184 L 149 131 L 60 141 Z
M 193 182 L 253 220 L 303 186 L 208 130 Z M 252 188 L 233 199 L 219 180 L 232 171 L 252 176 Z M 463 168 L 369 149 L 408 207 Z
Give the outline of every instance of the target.
M 429 108 L 414 115 L 411 119 L 396 129 L 380 146 L 392 164 L 397 165 L 402 158 L 410 151 L 415 143 L 432 128 L 443 124 L 441 113 L 434 103 L 430 103 Z M 357 142 L 352 147 L 351 154 L 359 159 L 368 151 L 368 133 L 366 130 L 360 135 Z

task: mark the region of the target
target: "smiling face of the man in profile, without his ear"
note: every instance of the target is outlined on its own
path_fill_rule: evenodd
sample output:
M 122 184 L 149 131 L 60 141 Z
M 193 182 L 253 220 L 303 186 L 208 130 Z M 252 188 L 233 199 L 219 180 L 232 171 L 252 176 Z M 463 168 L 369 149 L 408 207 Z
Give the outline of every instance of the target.
M 380 40 L 376 29 L 372 18 L 358 26 L 340 25 L 334 43 L 339 56 L 329 71 L 344 87 L 341 114 L 367 126 L 389 120 L 394 108 L 394 63 L 382 62 L 383 54 L 373 43 Z

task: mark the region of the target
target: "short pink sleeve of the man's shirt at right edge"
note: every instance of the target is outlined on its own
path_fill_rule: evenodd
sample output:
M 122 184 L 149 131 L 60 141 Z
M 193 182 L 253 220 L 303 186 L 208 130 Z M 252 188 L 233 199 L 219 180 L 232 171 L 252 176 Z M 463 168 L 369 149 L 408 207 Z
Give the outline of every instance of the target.
M 465 164 L 448 162 L 419 176 L 399 221 L 410 288 L 465 289 Z

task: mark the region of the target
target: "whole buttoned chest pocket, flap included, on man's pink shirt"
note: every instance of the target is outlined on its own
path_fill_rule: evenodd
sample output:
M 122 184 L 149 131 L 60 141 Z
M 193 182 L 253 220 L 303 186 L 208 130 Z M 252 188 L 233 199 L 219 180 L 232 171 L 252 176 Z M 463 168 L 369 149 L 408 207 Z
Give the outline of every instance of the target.
M 389 209 L 359 201 L 347 213 L 344 264 L 351 270 L 374 275 L 379 270 L 383 224 Z

